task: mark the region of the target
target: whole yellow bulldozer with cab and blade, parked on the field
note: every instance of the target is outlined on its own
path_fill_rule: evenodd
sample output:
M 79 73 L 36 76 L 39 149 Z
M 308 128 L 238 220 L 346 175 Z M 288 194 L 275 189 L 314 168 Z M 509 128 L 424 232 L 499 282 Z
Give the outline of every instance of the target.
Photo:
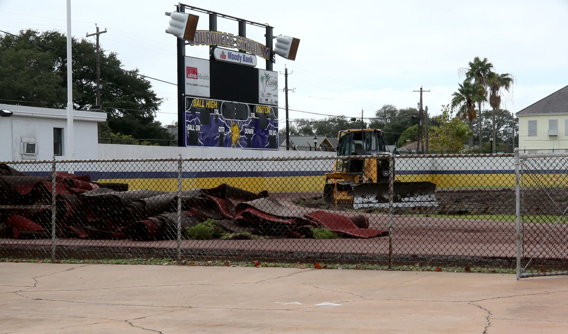
M 383 132 L 378 129 L 339 131 L 333 173 L 325 173 L 324 197 L 337 206 L 353 208 L 389 206 L 389 155 Z M 432 182 L 393 184 L 394 207 L 438 206 Z

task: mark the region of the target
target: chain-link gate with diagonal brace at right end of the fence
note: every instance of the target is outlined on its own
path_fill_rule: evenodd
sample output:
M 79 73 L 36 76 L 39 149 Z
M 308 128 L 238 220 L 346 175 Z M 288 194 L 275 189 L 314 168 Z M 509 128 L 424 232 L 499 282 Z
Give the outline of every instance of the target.
M 568 153 L 517 156 L 517 279 L 567 275 Z

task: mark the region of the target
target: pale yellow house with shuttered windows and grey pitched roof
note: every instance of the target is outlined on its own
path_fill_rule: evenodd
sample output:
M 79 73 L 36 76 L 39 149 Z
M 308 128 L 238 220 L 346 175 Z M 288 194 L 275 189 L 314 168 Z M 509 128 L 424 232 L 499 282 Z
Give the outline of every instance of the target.
M 525 153 L 568 152 L 568 86 L 516 113 Z

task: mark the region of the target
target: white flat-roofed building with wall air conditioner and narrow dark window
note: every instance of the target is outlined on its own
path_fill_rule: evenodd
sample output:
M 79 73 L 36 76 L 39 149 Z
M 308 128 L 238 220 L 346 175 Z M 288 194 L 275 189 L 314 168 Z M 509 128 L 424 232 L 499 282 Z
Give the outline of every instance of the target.
M 93 159 L 98 156 L 98 123 L 105 112 L 75 110 L 74 156 L 66 148 L 67 110 L 0 103 L 0 161 Z

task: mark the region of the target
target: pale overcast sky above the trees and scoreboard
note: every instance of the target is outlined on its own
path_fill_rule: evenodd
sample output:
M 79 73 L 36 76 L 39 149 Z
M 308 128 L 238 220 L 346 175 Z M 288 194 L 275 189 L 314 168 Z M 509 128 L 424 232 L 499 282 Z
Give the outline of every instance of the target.
M 108 32 L 101 46 L 118 53 L 125 69 L 176 83 L 176 37 L 166 34 L 177 2 L 163 0 L 73 0 L 72 32 L 79 38 Z M 268 23 L 274 35 L 300 39 L 295 61 L 276 56 L 274 70 L 289 76 L 290 119 L 374 116 L 385 104 L 424 106 L 439 114 L 450 102 L 460 68 L 487 57 L 498 73 L 516 78 L 506 108 L 517 112 L 568 85 L 568 1 L 204 1 L 187 5 L 253 22 Z M 207 15 L 198 29 L 208 30 Z M 0 0 L 0 30 L 66 31 L 65 0 Z M 237 34 L 237 23 L 219 19 L 218 30 Z M 247 37 L 265 44 L 264 30 L 247 27 Z M 88 37 L 95 41 L 94 37 Z M 206 47 L 187 47 L 187 56 L 207 58 Z M 264 61 L 258 58 L 259 68 Z M 0 62 L 1 66 L 1 62 Z M 112 78 L 103 78 L 111 81 Z M 164 98 L 158 120 L 177 120 L 176 86 L 151 80 Z M 279 119 L 285 107 L 281 93 Z M 65 101 L 64 101 L 65 102 Z M 304 111 L 304 112 L 300 112 Z

